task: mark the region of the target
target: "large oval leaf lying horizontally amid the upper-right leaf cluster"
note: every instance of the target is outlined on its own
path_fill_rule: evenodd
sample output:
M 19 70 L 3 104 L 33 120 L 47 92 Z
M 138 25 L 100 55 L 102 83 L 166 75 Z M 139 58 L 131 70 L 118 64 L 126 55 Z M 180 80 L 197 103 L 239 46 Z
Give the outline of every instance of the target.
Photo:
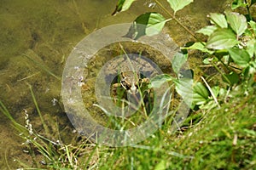
M 218 29 L 208 38 L 206 47 L 212 49 L 227 49 L 232 48 L 239 41 L 236 40 L 236 34 L 230 29 Z

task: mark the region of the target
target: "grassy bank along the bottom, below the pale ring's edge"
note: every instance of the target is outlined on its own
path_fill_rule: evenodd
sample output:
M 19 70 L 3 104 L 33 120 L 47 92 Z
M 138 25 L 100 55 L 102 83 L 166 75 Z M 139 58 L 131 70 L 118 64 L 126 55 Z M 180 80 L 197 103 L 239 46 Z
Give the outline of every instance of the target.
M 35 96 L 32 98 L 38 107 Z M 45 138 L 35 129 L 29 133 L 2 102 L 0 111 L 21 134 L 32 156 L 32 165 L 19 160 L 20 167 L 25 169 L 253 169 L 256 167 L 255 103 L 254 94 L 241 95 L 212 111 L 194 112 L 176 133 L 170 132 L 172 121 L 167 117 L 160 130 L 148 139 L 119 148 L 90 144 L 86 140 L 74 145 L 62 144 Z M 38 156 L 44 160 L 38 161 Z

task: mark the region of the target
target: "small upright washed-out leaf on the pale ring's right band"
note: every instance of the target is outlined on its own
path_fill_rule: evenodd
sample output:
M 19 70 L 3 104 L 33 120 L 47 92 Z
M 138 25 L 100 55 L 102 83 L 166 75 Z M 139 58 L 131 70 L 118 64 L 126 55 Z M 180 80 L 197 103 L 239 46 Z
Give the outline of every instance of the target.
M 174 55 L 172 59 L 172 69 L 176 74 L 178 74 L 182 66 L 186 63 L 187 59 L 188 54 L 177 53 Z

